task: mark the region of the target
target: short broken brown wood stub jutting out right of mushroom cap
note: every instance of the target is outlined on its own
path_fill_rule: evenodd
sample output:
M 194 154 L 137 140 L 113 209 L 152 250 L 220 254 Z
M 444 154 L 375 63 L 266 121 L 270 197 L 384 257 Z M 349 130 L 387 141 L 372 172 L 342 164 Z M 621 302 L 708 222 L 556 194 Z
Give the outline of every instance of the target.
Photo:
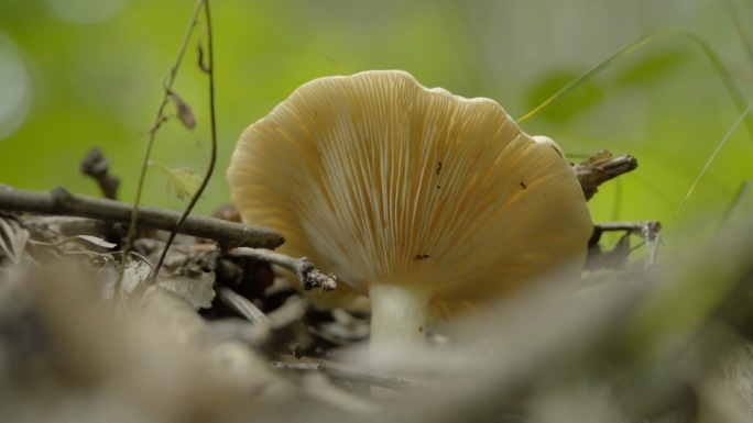
M 637 168 L 637 160 L 631 155 L 613 157 L 602 149 L 575 166 L 576 176 L 583 190 L 586 200 L 597 193 L 600 185 Z

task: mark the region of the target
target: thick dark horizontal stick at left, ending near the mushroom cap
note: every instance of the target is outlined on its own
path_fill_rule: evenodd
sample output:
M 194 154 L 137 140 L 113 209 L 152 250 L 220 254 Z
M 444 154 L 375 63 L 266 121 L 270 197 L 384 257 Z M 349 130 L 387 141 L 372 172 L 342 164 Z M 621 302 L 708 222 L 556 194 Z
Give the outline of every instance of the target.
M 77 196 L 64 188 L 52 191 L 26 191 L 9 187 L 0 189 L 0 210 L 33 212 L 98 219 L 107 222 L 128 223 L 133 204 Z M 138 209 L 137 224 L 143 227 L 171 231 L 181 214 L 173 210 L 153 207 Z M 262 226 L 249 226 L 220 219 L 190 215 L 181 225 L 182 234 L 216 241 L 220 248 L 236 247 L 276 248 L 285 240 L 277 232 Z

